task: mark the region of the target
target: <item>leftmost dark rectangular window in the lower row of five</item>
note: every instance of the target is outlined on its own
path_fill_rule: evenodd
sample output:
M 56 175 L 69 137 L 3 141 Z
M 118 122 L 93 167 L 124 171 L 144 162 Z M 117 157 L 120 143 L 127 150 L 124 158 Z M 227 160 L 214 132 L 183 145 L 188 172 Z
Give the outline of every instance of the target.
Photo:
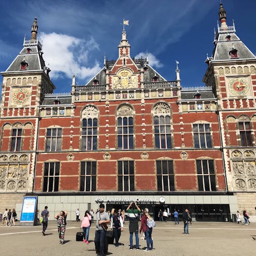
M 42 191 L 59 191 L 60 162 L 45 163 L 44 186 Z

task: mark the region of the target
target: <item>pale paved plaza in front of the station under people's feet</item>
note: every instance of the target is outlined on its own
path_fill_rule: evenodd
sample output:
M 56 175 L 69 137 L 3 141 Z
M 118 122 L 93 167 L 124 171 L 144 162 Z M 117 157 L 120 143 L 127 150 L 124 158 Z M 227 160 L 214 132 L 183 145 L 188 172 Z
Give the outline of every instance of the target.
M 139 223 L 140 224 L 140 223 Z M 157 222 L 152 237 L 155 250 L 129 250 L 129 223 L 124 224 L 120 245 L 116 248 L 109 245 L 108 255 L 255 255 L 256 224 L 248 226 L 231 222 L 193 222 L 189 226 L 189 235 L 183 233 L 183 223 L 175 225 L 174 222 Z M 94 247 L 95 223 L 90 229 L 90 244 L 76 241 L 76 232 L 80 223 L 69 221 L 65 234 L 66 244 L 60 245 L 56 222 L 49 221 L 46 236 L 42 236 L 42 226 L 5 226 L 0 224 L 1 255 L 61 255 L 81 256 L 96 255 Z M 139 238 L 141 234 L 139 235 Z M 146 247 L 146 240 L 139 240 L 140 247 Z M 135 244 L 135 237 L 134 237 Z

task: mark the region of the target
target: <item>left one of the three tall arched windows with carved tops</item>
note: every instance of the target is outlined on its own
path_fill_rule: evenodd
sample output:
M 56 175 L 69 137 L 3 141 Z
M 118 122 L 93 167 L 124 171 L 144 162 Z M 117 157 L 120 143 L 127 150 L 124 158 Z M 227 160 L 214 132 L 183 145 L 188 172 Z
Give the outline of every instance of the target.
M 98 135 L 98 110 L 87 106 L 82 111 L 82 150 L 96 150 Z

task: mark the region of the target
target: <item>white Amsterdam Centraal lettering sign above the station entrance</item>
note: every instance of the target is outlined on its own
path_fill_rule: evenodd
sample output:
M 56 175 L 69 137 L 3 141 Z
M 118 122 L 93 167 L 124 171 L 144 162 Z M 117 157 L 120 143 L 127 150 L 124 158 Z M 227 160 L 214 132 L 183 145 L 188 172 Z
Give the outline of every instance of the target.
M 136 203 L 164 203 L 164 197 L 161 196 L 160 198 L 152 197 L 152 198 L 145 198 L 145 197 L 124 197 L 124 198 L 113 198 L 113 197 L 107 197 L 106 201 L 102 197 L 96 197 L 95 202 L 96 203 L 116 203 L 116 204 L 128 204 L 130 202 L 136 202 Z

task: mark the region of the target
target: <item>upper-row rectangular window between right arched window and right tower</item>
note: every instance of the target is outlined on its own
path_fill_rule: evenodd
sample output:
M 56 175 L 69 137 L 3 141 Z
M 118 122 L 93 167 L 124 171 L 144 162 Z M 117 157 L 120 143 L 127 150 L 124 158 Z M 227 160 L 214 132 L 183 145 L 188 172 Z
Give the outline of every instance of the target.
M 210 124 L 193 124 L 195 148 L 211 148 Z

